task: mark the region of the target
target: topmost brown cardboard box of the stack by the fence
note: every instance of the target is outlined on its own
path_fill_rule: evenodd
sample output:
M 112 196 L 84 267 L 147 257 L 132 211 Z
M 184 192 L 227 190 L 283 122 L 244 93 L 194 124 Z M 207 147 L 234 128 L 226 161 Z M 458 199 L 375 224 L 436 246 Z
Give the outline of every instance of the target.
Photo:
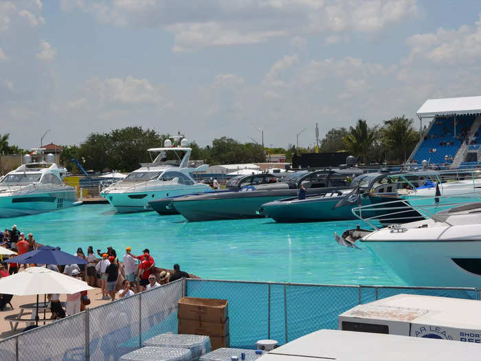
M 224 323 L 227 320 L 227 300 L 216 298 L 182 297 L 179 300 L 177 318 L 201 322 Z

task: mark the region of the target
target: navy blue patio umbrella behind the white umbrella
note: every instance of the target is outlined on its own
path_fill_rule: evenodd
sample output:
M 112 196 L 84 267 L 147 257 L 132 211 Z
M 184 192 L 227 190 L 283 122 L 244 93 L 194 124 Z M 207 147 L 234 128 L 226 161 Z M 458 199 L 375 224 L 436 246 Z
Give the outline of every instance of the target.
M 85 259 L 63 252 L 60 248 L 50 247 L 49 245 L 43 245 L 37 250 L 33 250 L 19 256 L 14 256 L 11 259 L 6 260 L 8 263 L 37 263 L 46 265 L 71 265 L 71 264 L 85 264 Z

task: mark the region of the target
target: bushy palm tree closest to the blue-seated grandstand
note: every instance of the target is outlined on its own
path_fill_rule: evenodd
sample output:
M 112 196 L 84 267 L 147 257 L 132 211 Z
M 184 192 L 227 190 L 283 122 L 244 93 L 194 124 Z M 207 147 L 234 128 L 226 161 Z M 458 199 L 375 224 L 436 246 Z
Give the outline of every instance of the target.
M 381 134 L 383 143 L 399 162 L 406 161 L 419 138 L 419 133 L 412 127 L 412 119 L 405 116 L 385 120 Z

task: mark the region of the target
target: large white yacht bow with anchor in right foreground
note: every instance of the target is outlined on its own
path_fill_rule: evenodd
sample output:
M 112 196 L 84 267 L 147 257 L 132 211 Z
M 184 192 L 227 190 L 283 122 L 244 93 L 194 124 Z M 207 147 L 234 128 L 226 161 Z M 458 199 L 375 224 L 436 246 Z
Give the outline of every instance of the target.
M 481 287 L 481 203 L 387 228 L 346 230 L 336 241 L 365 245 L 407 285 Z

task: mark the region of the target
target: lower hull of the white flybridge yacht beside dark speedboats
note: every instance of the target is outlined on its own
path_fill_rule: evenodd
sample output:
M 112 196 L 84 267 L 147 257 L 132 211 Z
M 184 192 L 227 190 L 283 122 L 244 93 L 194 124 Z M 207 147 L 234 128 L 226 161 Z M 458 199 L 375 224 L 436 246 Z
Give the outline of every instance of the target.
M 157 190 L 139 190 L 136 192 L 124 193 L 101 193 L 102 197 L 115 207 L 120 213 L 146 212 L 153 208 L 146 207 L 148 201 L 153 199 L 176 197 L 201 193 L 210 188 L 206 186 L 192 186 L 189 188 L 163 188 Z

